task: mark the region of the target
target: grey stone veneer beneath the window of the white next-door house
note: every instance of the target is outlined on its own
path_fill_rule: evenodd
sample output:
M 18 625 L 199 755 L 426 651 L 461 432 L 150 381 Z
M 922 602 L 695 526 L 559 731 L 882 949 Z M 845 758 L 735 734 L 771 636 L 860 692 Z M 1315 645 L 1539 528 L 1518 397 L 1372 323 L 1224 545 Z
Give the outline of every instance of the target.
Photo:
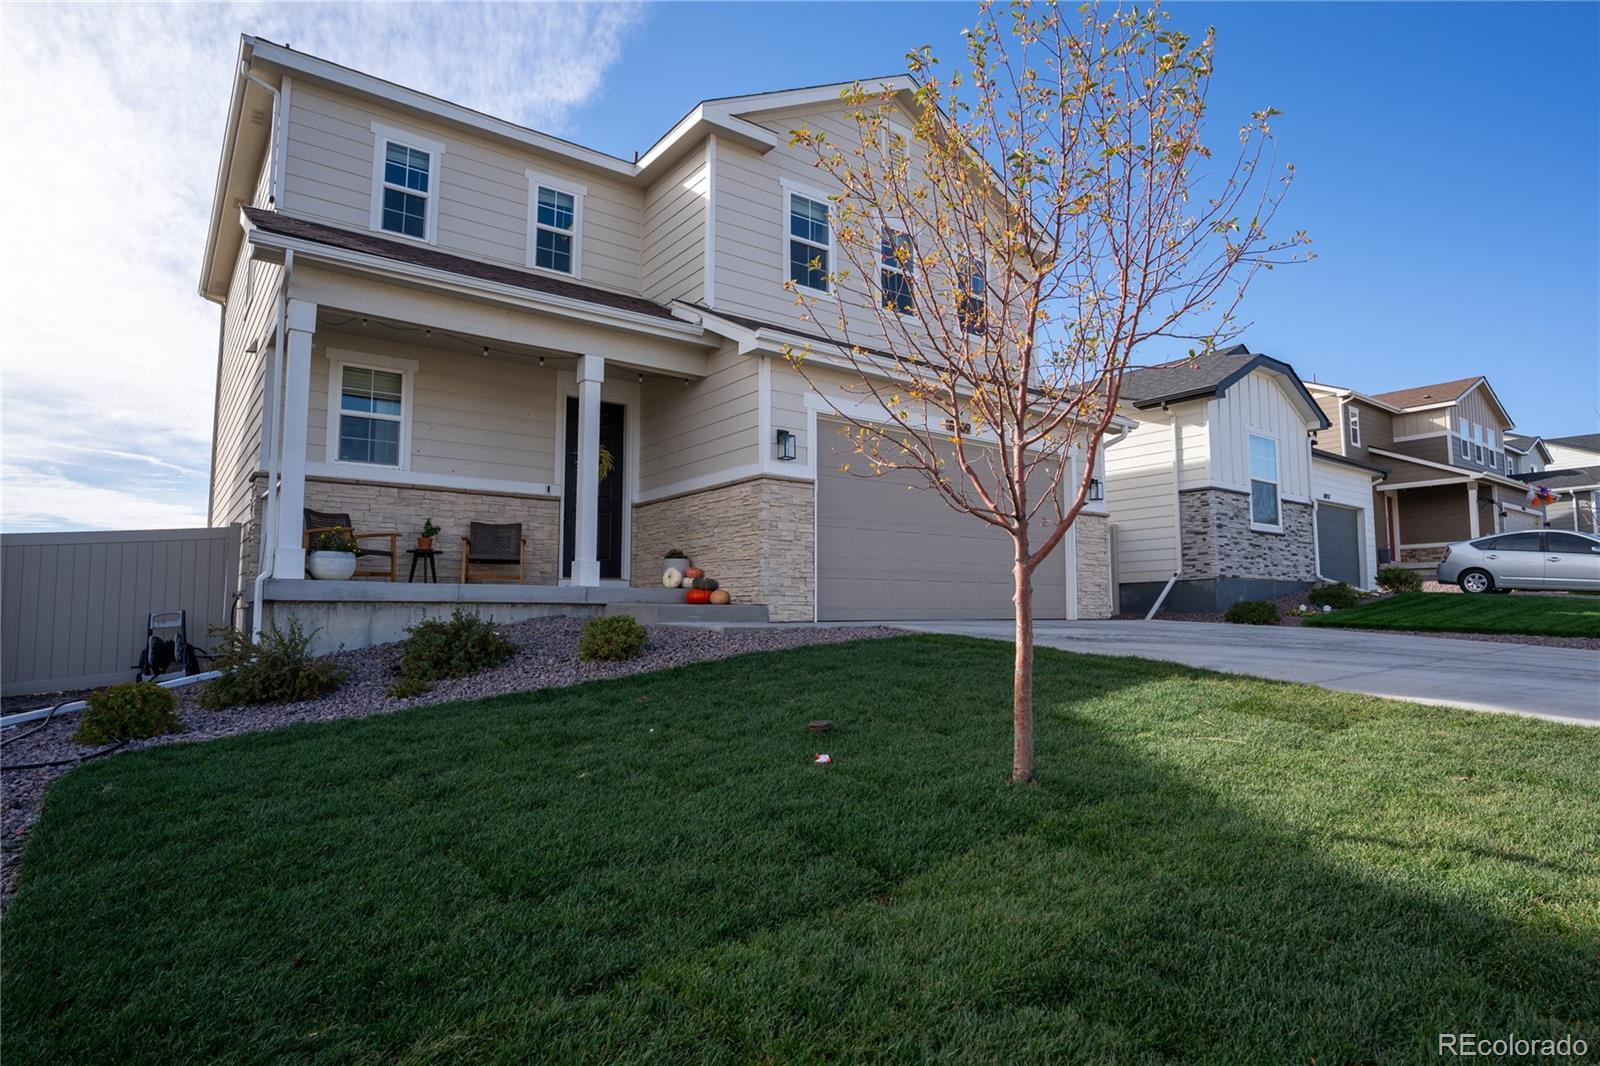
M 1250 528 L 1250 495 L 1226 488 L 1179 493 L 1184 579 L 1317 579 L 1317 528 L 1312 506 L 1283 501 L 1283 533 Z

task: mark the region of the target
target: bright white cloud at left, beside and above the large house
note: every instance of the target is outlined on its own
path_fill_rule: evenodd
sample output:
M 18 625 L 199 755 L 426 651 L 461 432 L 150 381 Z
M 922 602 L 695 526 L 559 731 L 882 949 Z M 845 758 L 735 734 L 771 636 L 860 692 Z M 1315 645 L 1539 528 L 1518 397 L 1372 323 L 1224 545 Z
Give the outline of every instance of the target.
M 550 133 L 632 5 L 5 5 L 0 527 L 205 522 L 218 307 L 195 293 L 238 34 Z

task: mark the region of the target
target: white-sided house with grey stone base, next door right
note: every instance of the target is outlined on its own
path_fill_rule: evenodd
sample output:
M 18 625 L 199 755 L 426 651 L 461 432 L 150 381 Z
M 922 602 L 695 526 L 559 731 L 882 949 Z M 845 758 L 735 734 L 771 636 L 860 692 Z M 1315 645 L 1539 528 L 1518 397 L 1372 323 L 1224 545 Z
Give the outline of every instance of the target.
M 1293 367 L 1238 344 L 1128 371 L 1122 403 L 1139 421 L 1106 447 L 1123 613 L 1158 600 L 1214 611 L 1318 579 L 1373 586 L 1382 469 L 1314 453 L 1328 419 Z

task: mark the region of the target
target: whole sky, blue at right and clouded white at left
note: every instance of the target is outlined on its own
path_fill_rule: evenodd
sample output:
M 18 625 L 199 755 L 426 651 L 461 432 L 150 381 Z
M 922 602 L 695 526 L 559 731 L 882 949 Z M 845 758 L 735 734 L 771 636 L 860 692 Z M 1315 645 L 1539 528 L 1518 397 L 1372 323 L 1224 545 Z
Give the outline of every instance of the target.
M 10 5 L 0 528 L 205 522 L 218 307 L 195 295 L 238 34 L 627 157 L 696 101 L 962 58 L 971 3 Z M 1222 142 L 1272 104 L 1318 259 L 1245 341 L 1366 392 L 1485 373 L 1600 429 L 1597 5 L 1181 3 Z M 152 78 L 154 69 L 160 77 Z M 70 283 L 64 283 L 70 279 Z

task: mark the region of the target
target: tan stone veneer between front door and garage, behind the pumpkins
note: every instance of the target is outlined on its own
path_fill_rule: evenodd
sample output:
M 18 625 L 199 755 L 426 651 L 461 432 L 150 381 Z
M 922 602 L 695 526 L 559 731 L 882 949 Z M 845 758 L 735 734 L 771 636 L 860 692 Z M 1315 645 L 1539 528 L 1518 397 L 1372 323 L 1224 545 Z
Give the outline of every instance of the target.
M 658 584 L 670 549 L 773 621 L 811 621 L 816 573 L 813 483 L 750 477 L 634 504 L 634 584 Z

